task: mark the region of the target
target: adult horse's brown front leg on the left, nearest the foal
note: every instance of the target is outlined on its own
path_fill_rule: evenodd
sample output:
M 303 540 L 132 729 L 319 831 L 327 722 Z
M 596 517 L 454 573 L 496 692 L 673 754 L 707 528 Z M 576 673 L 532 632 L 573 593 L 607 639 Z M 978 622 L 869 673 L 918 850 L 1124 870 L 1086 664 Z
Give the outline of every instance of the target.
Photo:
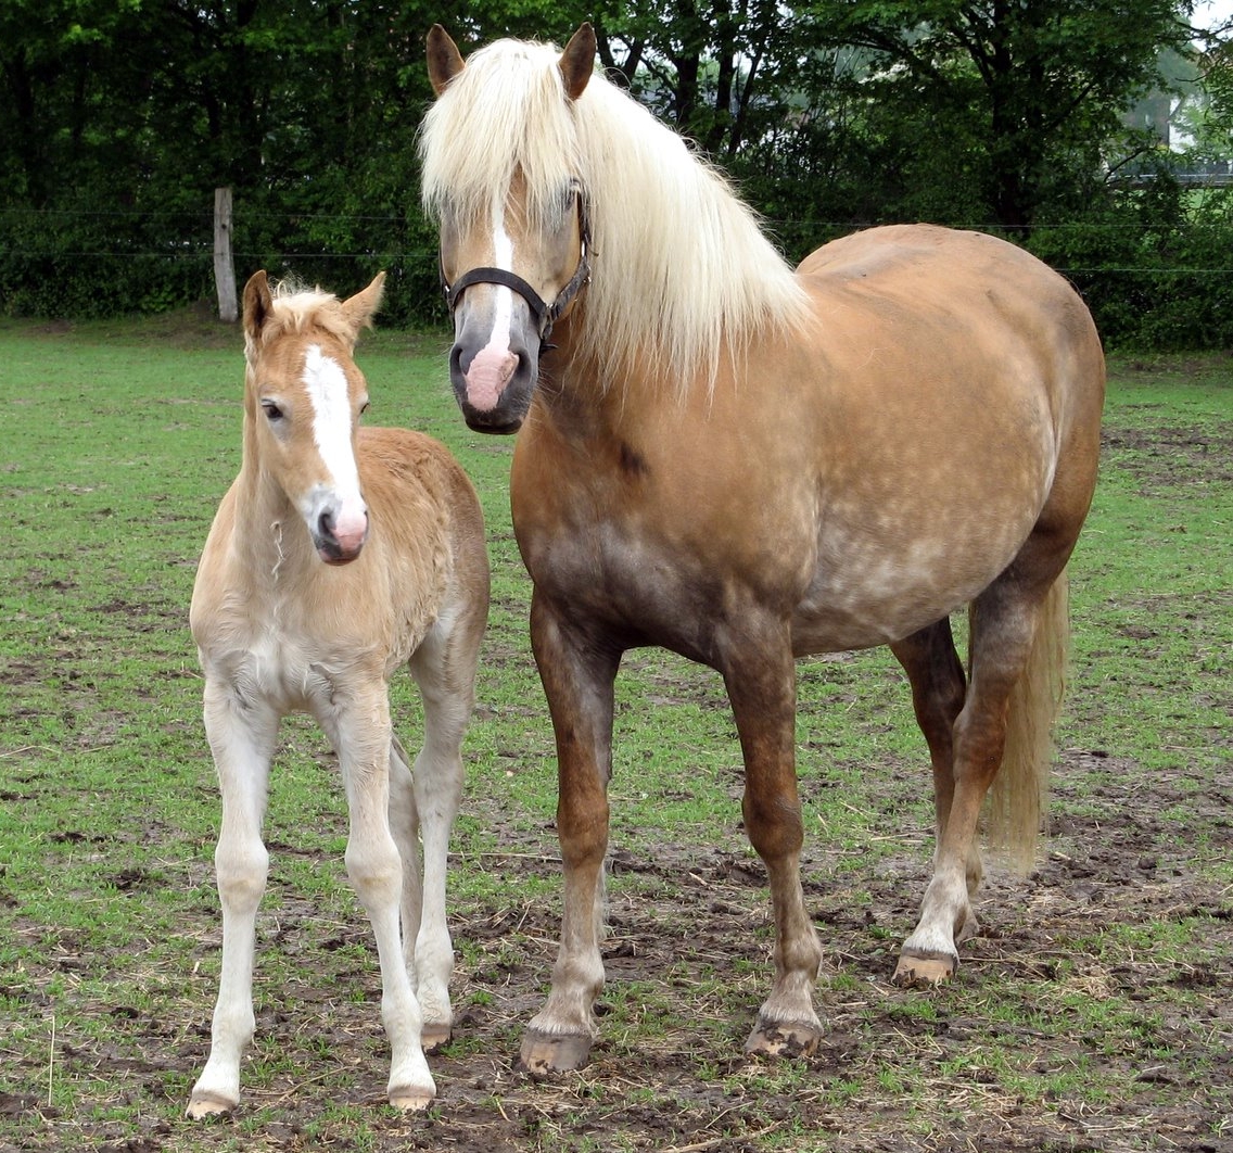
M 519 1064 L 533 1074 L 586 1064 L 604 987 L 599 954 L 608 851 L 613 686 L 620 650 L 584 636 L 536 593 L 531 646 L 556 735 L 557 837 L 565 869 L 561 945 L 544 1007 L 523 1037 Z

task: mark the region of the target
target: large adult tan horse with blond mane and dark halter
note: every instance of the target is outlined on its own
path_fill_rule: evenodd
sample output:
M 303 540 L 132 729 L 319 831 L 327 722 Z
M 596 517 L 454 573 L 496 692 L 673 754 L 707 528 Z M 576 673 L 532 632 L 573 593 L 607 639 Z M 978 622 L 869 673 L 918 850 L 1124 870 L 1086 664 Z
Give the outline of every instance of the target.
M 937 848 L 896 978 L 942 980 L 975 927 L 999 767 L 1010 840 L 1031 858 L 1038 832 L 1104 356 L 1065 281 L 986 236 L 875 228 L 788 268 L 594 54 L 589 25 L 563 52 L 501 41 L 466 62 L 428 38 L 451 377 L 472 428 L 522 428 L 510 499 L 559 757 L 561 946 L 522 1059 L 575 1067 L 594 1036 L 613 687 L 640 645 L 724 677 L 777 930 L 747 1048 L 808 1051 L 822 954 L 794 657 L 889 645 L 907 673 Z

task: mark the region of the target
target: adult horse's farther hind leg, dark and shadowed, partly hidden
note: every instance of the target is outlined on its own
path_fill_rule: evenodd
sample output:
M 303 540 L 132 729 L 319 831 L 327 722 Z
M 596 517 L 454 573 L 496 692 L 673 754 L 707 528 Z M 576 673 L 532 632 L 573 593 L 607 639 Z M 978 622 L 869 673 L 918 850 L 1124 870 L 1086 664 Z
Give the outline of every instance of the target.
M 943 618 L 893 644 L 890 649 L 907 673 L 916 723 L 928 745 L 933 767 L 936 846 L 941 846 L 954 800 L 954 721 L 963 709 L 967 694 L 967 677 L 959 655 L 954 651 L 951 619 Z M 969 897 L 974 897 L 980 888 L 983 874 L 980 846 L 973 837 L 967 861 Z M 965 940 L 978 929 L 969 904 L 961 938 Z

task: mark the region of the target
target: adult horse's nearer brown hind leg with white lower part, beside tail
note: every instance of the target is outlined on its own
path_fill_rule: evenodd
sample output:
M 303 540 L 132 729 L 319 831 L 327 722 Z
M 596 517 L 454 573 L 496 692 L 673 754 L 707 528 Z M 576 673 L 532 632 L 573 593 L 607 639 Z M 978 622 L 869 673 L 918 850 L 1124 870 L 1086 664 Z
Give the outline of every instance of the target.
M 970 913 L 972 861 L 978 853 L 980 809 L 999 768 L 1016 797 L 1015 821 L 1021 845 L 1034 846 L 1041 783 L 1048 772 L 1047 742 L 1028 755 L 1007 749 L 1011 707 L 1030 714 L 1012 730 L 1047 732 L 1059 697 L 1054 667 L 1064 651 L 1065 557 L 1049 555 L 1046 538 L 1030 539 L 1015 564 L 972 607 L 972 683 L 953 729 L 953 794 L 935 855 L 933 878 L 925 890 L 916 929 L 904 942 L 895 980 L 933 984 L 958 967 L 957 942 Z M 1031 564 L 1032 560 L 1036 564 Z

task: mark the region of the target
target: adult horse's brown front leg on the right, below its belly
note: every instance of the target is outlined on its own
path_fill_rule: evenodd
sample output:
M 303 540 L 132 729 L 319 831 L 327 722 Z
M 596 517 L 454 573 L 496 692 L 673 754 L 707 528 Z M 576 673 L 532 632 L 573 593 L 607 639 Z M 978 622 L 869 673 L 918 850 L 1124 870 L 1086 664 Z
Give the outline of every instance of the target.
M 813 1000 L 822 950 L 800 887 L 797 673 L 787 628 L 755 642 L 747 624 L 741 649 L 725 652 L 721 671 L 745 756 L 745 830 L 771 884 L 776 978 L 745 1051 L 795 1056 L 813 1052 L 822 1031 Z

